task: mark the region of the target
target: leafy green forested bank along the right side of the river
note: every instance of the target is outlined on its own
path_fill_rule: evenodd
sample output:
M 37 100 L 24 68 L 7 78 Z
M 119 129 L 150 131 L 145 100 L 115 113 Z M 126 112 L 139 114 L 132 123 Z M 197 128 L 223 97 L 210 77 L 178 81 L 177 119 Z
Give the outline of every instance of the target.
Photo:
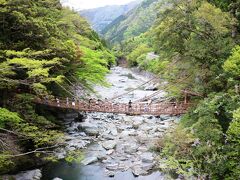
M 166 172 L 187 179 L 240 178 L 239 3 L 164 0 L 152 28 L 117 48 L 129 65 L 166 79 L 171 97 L 181 100 L 183 89 L 202 94 L 158 142 Z M 152 51 L 159 58 L 147 61 Z

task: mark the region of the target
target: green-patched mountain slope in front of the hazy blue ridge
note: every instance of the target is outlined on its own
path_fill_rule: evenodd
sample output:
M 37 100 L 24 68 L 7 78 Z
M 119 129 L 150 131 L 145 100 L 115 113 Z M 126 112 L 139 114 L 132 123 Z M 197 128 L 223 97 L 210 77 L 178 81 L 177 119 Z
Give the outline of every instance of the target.
M 119 16 L 102 31 L 105 39 L 115 44 L 146 32 L 157 17 L 155 9 L 159 1 L 145 0 L 127 14 Z

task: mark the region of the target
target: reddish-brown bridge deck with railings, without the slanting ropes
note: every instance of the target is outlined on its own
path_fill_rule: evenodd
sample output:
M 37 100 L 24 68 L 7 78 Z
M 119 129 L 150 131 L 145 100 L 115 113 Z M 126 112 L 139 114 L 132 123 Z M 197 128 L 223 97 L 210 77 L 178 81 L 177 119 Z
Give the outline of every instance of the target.
M 190 103 L 174 103 L 174 102 L 162 102 L 156 104 L 137 103 L 111 103 L 103 101 L 67 101 L 67 100 L 53 100 L 46 101 L 43 99 L 36 99 L 36 103 L 45 104 L 47 106 L 61 108 L 61 109 L 73 109 L 84 112 L 103 112 L 103 113 L 117 113 L 117 114 L 130 114 L 130 115 L 180 115 L 185 114 Z

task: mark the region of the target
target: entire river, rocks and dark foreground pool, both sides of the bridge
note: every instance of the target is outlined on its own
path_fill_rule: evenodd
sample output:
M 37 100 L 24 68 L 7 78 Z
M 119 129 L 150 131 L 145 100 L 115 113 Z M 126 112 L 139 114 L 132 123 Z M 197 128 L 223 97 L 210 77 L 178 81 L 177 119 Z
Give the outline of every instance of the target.
M 97 86 L 97 98 L 112 98 L 139 87 L 150 77 L 115 67 L 107 76 L 109 87 Z M 140 86 L 137 90 L 115 99 L 115 102 L 135 101 L 153 93 L 159 86 L 154 82 Z M 164 100 L 166 93 L 158 98 Z M 153 99 L 154 100 L 154 99 Z M 66 156 L 67 150 L 82 150 L 85 154 L 81 165 L 71 167 L 64 162 L 43 167 L 42 179 L 164 179 L 156 170 L 157 154 L 152 151 L 156 140 L 167 129 L 177 123 L 178 117 L 127 116 L 125 114 L 87 113 L 84 122 L 76 122 L 78 113 L 65 114 L 62 118 L 66 127 L 66 149 L 59 149 L 58 158 Z M 37 171 L 38 172 L 38 171 Z M 64 174 L 63 174 L 64 173 Z M 40 176 L 38 176 L 40 177 Z M 21 178 L 19 178 L 21 179 Z

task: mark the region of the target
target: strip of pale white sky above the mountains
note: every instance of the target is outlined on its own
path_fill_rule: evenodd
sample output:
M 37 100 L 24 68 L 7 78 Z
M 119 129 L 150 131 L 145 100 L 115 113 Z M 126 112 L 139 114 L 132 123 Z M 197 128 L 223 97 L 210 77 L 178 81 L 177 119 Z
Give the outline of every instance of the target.
M 127 4 L 131 1 L 134 0 L 61 0 L 64 6 L 69 6 L 76 10 L 92 9 L 114 4 Z

